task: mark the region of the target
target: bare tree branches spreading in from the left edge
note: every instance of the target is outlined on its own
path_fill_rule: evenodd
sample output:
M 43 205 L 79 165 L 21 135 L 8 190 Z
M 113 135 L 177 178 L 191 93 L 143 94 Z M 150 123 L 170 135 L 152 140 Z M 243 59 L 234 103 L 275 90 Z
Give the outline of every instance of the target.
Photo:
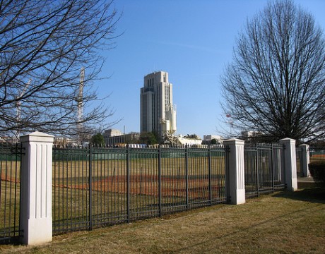
M 117 20 L 112 1 L 0 1 L 0 132 L 76 133 L 111 116 L 92 81 Z

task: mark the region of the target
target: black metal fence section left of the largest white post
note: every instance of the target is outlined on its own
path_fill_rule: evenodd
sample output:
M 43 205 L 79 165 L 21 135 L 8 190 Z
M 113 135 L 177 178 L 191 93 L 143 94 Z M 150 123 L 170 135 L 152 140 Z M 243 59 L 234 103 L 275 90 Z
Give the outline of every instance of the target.
M 15 241 L 21 234 L 20 145 L 0 144 L 0 243 Z

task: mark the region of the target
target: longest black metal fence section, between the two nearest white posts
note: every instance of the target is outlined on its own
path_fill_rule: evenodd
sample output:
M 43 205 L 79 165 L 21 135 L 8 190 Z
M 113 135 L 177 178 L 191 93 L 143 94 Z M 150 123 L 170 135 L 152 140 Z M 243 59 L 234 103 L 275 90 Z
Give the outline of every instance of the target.
M 53 230 L 226 202 L 227 147 L 54 148 Z

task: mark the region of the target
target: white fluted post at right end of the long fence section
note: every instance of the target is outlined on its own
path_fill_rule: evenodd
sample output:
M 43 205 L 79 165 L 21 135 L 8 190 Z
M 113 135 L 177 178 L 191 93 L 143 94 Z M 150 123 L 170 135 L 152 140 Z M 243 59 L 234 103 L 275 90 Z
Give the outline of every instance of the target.
M 229 194 L 230 203 L 233 205 L 244 204 L 245 198 L 245 173 L 244 173 L 244 141 L 236 138 L 225 140 L 229 152 Z

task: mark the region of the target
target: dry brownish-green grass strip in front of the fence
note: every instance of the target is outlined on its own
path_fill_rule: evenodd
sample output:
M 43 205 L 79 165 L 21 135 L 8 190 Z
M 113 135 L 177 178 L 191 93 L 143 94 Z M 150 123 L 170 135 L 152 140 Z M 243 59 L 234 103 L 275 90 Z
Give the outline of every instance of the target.
M 305 188 L 54 236 L 0 253 L 325 253 L 325 190 Z

